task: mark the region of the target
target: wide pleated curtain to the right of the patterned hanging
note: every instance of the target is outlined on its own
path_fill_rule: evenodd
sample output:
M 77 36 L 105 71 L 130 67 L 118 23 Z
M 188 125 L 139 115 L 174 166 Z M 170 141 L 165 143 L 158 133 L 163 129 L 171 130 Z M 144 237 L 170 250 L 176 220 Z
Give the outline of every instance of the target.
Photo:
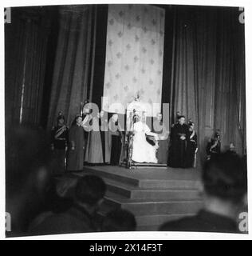
M 195 122 L 199 156 L 215 130 L 246 148 L 244 25 L 238 8 L 177 6 L 171 110 Z

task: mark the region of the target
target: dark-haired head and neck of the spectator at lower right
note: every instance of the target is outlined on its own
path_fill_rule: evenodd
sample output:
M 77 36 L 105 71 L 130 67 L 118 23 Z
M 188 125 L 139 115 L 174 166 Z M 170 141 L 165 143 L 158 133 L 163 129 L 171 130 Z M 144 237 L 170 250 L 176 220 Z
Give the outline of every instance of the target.
M 238 155 L 222 153 L 205 163 L 205 208 L 235 218 L 246 195 L 246 165 Z

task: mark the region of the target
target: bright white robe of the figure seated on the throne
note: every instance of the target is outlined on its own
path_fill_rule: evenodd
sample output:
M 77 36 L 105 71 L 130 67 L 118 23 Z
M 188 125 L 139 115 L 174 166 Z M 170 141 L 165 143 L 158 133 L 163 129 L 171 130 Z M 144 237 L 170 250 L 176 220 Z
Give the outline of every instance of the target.
M 146 141 L 145 134 L 151 130 L 144 122 L 134 124 L 132 160 L 135 162 L 157 162 L 156 146 Z

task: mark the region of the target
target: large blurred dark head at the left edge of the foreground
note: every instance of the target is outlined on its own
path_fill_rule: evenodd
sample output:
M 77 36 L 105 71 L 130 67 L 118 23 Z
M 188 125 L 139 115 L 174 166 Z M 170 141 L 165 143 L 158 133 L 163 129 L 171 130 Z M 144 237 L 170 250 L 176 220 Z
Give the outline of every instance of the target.
M 49 145 L 40 128 L 6 130 L 6 212 L 10 213 L 12 234 L 26 231 L 45 205 L 51 181 Z

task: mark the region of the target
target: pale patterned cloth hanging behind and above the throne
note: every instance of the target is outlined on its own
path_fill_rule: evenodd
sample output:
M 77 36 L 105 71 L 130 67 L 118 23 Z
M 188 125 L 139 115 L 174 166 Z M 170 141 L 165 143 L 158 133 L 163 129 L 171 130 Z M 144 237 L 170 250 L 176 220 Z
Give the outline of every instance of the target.
M 126 107 L 137 94 L 142 102 L 161 103 L 164 18 L 156 6 L 108 6 L 104 110 L 115 102 Z

